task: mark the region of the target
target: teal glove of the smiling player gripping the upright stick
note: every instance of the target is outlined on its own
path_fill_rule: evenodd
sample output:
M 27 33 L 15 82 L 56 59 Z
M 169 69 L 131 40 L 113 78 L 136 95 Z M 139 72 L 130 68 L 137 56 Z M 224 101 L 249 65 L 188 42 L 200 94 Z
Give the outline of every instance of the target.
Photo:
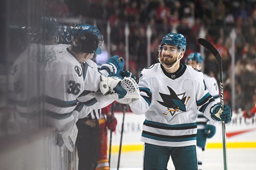
M 228 105 L 224 105 L 222 110 L 220 104 L 215 104 L 212 106 L 210 113 L 211 118 L 215 121 L 224 121 L 226 124 L 231 121 L 232 109 Z

